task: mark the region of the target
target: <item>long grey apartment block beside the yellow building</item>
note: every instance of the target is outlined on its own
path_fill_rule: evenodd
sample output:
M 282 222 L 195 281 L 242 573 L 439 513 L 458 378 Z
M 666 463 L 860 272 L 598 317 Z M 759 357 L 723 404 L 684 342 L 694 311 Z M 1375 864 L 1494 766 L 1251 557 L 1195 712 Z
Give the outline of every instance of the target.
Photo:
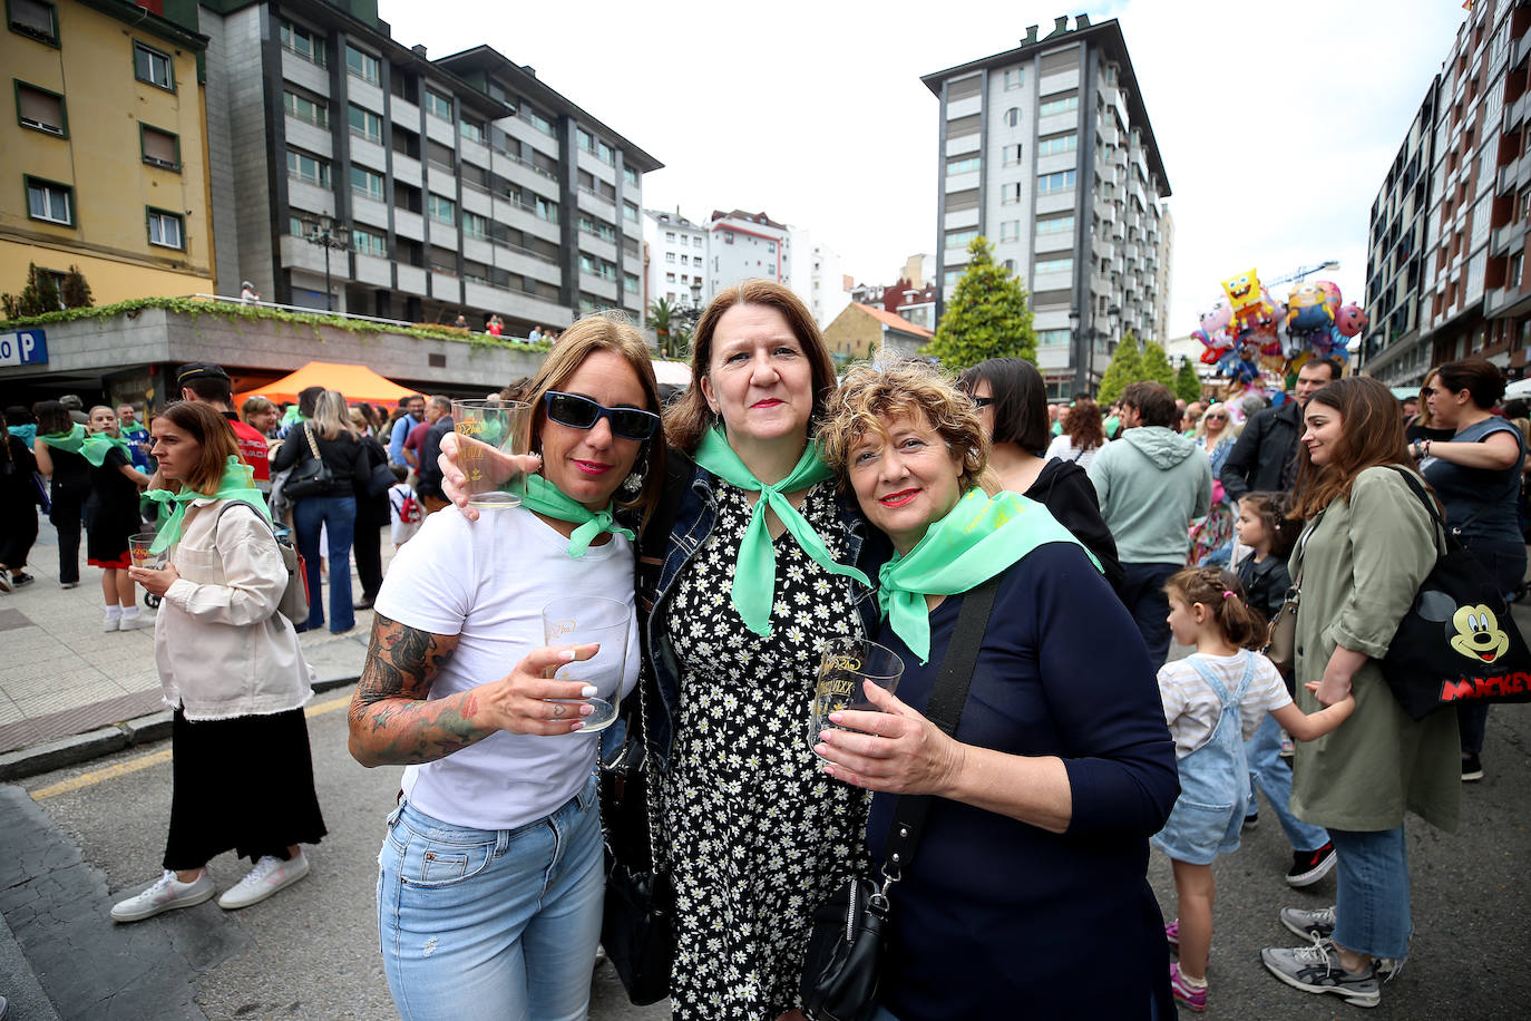
M 475 329 L 498 314 L 508 335 L 597 308 L 641 318 L 641 176 L 661 164 L 536 69 L 490 46 L 430 60 L 369 0 L 199 14 L 220 292 L 248 279 L 283 303 Z

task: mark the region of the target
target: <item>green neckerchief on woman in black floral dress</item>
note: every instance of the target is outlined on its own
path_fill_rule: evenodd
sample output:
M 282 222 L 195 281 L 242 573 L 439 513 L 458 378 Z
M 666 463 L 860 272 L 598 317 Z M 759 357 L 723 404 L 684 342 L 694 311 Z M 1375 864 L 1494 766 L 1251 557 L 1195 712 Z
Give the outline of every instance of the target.
M 746 628 L 758 635 L 770 634 L 770 611 L 776 597 L 776 546 L 766 528 L 767 507 L 776 511 L 776 517 L 787 527 L 804 553 L 813 557 L 814 563 L 830 574 L 844 574 L 871 586 L 871 580 L 856 568 L 836 563 L 824 540 L 819 539 L 819 533 L 813 531 L 813 525 L 787 502 L 787 493 L 834 478 L 834 471 L 819 456 L 818 441 L 804 449 L 792 473 L 775 485 L 766 485 L 744 467 L 739 455 L 733 453 L 733 447 L 724 438 L 721 427 L 709 429 L 701 435 L 701 445 L 697 447 L 697 464 L 729 485 L 761 494 L 755 501 L 755 513 L 750 514 L 750 524 L 744 530 L 738 563 L 733 568 L 733 608 L 739 611 Z

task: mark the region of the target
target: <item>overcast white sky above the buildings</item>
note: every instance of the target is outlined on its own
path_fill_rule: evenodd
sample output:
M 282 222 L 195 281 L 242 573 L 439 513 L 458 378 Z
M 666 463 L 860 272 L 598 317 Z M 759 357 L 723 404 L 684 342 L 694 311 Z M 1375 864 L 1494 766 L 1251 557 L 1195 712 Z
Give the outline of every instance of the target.
M 857 283 L 934 253 L 939 103 L 920 75 L 1066 11 L 1118 17 L 1173 191 L 1176 337 L 1251 266 L 1338 259 L 1324 276 L 1363 297 L 1372 201 L 1467 18 L 1461 0 L 378 6 L 397 41 L 432 58 L 487 43 L 649 152 L 664 168 L 646 207 L 769 213 Z

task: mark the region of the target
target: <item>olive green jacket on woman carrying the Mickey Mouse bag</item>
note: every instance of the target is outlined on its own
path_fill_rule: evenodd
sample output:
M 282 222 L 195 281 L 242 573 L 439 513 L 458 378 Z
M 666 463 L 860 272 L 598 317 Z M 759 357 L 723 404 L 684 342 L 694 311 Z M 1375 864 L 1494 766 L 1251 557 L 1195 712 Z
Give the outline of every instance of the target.
M 1396 830 L 1404 810 L 1456 833 L 1462 761 L 1454 712 L 1415 723 L 1382 680 L 1381 657 L 1436 563 L 1439 533 L 1393 468 L 1367 468 L 1304 531 L 1291 572 L 1297 612 L 1297 706 L 1318 709 L 1304 684 L 1324 675 L 1337 644 L 1364 652 L 1352 681 L 1355 713 L 1297 745 L 1292 814 L 1334 830 Z

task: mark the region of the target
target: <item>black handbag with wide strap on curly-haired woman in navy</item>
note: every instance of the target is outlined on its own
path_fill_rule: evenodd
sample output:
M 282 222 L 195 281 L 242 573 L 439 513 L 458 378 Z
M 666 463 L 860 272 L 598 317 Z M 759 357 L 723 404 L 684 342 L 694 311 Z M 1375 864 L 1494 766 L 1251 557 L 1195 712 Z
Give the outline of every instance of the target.
M 946 735 L 955 736 L 961 721 L 998 588 L 1000 576 L 995 576 L 971 589 L 957 612 L 957 628 L 925 710 Z M 914 860 L 929 810 L 929 796 L 900 796 L 888 828 L 882 885 L 867 876 L 853 876 L 814 909 L 801 986 L 802 1012 L 813 1021 L 868 1021 L 876 1013 L 890 932 L 888 892 Z

